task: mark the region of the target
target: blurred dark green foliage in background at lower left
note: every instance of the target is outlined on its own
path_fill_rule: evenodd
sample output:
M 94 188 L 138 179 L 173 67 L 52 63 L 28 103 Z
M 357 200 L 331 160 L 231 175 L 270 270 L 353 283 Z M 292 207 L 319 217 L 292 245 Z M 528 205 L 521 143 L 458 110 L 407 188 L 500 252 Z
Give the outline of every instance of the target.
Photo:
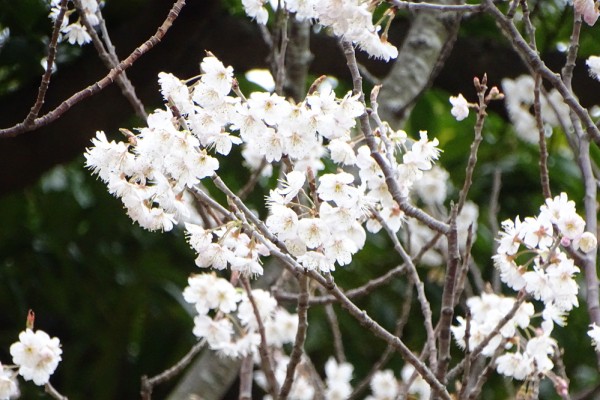
M 33 309 L 36 327 L 61 340 L 52 379 L 61 391 L 136 398 L 142 375 L 162 371 L 194 343 L 181 304 L 194 257 L 181 233 L 132 225 L 82 165 L 79 158 L 0 199 L 0 359 L 10 362 L 8 347 Z M 39 393 L 22 389 L 25 398 Z

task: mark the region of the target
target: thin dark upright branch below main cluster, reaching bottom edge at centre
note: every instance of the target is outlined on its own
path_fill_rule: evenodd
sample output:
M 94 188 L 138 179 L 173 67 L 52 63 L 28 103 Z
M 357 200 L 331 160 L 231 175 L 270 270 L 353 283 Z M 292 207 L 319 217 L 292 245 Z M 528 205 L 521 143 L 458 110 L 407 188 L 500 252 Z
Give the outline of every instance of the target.
M 290 354 L 290 361 L 288 362 L 287 370 L 285 373 L 285 380 L 281 385 L 279 391 L 279 400 L 285 400 L 290 394 L 292 384 L 294 383 L 294 374 L 296 367 L 300 363 L 302 358 L 303 346 L 306 341 L 306 332 L 308 330 L 308 278 L 306 275 L 302 275 L 299 281 L 300 295 L 298 296 L 298 329 L 296 330 L 296 338 L 294 340 L 294 347 Z

